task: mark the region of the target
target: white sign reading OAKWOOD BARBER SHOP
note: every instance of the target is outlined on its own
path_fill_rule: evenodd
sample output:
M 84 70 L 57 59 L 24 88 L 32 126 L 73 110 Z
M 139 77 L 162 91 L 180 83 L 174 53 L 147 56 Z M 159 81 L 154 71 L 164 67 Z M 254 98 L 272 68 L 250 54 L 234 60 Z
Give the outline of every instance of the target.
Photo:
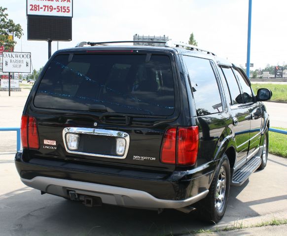
M 31 73 L 31 53 L 3 52 L 3 72 Z

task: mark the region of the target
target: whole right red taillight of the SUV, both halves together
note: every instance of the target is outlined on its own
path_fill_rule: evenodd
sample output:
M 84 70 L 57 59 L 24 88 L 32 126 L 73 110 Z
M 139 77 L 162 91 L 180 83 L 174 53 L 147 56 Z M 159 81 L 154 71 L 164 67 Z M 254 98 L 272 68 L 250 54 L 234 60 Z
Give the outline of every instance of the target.
M 168 129 L 161 147 L 161 162 L 178 165 L 194 165 L 199 144 L 198 126 Z

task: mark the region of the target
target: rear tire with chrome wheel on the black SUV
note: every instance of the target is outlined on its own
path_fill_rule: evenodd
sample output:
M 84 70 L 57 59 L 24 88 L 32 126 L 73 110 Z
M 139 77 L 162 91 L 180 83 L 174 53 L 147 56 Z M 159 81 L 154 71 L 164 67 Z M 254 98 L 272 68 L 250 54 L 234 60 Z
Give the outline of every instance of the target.
M 225 184 L 223 183 L 223 180 Z M 221 186 L 219 186 L 220 183 Z M 203 200 L 198 202 L 198 204 L 196 204 L 195 206 L 197 207 L 199 211 L 198 212 L 199 216 L 201 217 L 202 220 L 217 223 L 219 220 L 222 219 L 225 213 L 225 209 L 227 207 L 229 189 L 230 189 L 230 165 L 228 157 L 224 153 L 218 163 L 217 169 L 215 171 L 215 176 L 209 188 L 208 195 Z M 218 191 L 220 191 L 221 196 L 218 195 Z M 220 198 L 223 199 L 223 201 L 220 200 Z

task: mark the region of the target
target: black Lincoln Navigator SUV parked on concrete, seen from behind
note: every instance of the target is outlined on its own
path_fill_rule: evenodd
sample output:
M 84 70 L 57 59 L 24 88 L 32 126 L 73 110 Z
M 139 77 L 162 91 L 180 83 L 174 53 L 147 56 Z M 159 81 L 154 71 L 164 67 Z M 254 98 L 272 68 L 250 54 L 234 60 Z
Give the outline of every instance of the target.
M 192 45 L 88 43 L 57 51 L 26 102 L 15 157 L 26 185 L 86 206 L 197 209 L 268 154 L 269 116 L 243 70 Z

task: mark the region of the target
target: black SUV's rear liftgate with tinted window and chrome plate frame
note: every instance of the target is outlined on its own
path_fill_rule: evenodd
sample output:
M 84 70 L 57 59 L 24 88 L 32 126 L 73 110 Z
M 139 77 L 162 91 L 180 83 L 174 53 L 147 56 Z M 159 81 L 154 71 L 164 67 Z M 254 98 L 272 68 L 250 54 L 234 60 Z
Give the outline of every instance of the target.
M 84 51 L 56 55 L 29 115 L 40 149 L 33 155 L 125 168 L 172 171 L 160 162 L 164 131 L 179 117 L 171 52 Z

